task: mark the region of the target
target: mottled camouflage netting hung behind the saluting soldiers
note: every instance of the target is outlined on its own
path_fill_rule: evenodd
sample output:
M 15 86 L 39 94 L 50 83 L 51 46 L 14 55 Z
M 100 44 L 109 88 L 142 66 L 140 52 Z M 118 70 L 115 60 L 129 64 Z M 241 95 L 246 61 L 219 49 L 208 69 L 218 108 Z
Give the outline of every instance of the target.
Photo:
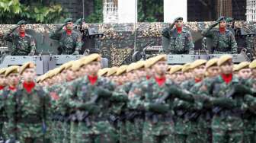
M 188 22 L 185 27 L 193 33 L 198 33 L 213 22 Z M 134 24 L 88 24 L 88 27 L 95 28 L 104 33 L 104 37 L 95 40 L 95 47 L 101 49 L 101 53 L 110 59 L 110 66 L 121 65 L 130 62 L 134 49 L 142 50 L 146 46 L 161 46 L 162 29 L 168 27 L 167 23 L 138 23 Z M 35 33 L 46 35 L 55 30 L 59 24 L 28 24 L 27 28 Z M 14 25 L 0 25 L 0 30 L 7 33 Z M 256 32 L 256 25 L 245 21 L 236 21 L 235 27 L 243 27 L 246 32 Z M 135 33 L 136 29 L 136 33 Z M 136 46 L 135 46 L 136 36 Z M 201 37 L 195 36 L 195 41 Z M 41 40 L 38 40 L 41 41 Z M 52 46 L 52 42 L 47 41 Z M 37 43 L 37 45 L 40 43 Z M 56 47 L 45 48 L 53 50 Z

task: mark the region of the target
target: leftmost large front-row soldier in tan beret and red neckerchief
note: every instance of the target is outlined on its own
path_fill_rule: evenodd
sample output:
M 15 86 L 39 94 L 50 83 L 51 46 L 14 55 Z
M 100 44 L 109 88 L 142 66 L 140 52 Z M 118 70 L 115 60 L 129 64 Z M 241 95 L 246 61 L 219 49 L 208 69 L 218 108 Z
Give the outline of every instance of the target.
M 46 118 L 50 98 L 34 83 L 36 75 L 35 65 L 27 62 L 21 66 L 20 71 L 24 82 L 13 96 L 9 97 L 14 114 L 11 116 L 11 124 L 15 125 L 12 135 L 21 143 L 49 142 L 44 138 L 46 133 Z

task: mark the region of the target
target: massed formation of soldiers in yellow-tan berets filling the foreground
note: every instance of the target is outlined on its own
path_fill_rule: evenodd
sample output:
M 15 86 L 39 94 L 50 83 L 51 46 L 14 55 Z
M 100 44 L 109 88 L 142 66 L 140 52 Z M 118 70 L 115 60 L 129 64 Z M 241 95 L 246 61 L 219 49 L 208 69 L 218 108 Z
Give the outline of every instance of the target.
M 32 62 L 0 71 L 7 141 L 255 141 L 256 61 L 169 66 L 160 55 L 101 69 L 91 54 L 35 75 Z

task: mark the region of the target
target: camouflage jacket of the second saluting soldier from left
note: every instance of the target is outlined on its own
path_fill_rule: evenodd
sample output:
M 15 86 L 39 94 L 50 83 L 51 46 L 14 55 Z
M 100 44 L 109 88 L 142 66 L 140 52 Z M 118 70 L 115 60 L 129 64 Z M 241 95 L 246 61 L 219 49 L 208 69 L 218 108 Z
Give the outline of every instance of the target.
M 68 35 L 65 30 L 56 30 L 50 33 L 50 38 L 59 41 L 58 50 L 62 55 L 71 55 L 81 51 L 81 36 L 75 30 L 72 30 L 71 35 Z

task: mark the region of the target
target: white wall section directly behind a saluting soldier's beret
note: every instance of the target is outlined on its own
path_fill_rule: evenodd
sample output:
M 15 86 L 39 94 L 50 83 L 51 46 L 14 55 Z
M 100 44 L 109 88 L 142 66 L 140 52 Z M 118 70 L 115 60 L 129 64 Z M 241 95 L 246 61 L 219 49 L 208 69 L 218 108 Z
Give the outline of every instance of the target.
M 187 0 L 164 0 L 164 21 L 173 22 L 176 17 L 187 21 Z

